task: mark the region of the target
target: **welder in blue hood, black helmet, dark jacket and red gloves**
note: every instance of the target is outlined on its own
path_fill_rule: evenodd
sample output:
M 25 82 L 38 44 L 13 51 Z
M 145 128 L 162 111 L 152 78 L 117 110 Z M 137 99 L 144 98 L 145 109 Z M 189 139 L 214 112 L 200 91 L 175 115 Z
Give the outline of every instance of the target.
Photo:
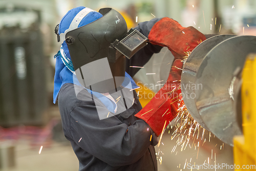
M 55 28 L 54 103 L 79 160 L 79 170 L 157 170 L 157 136 L 177 114 L 184 52 L 205 36 L 170 18 L 154 18 L 127 31 L 112 8 L 77 7 Z M 167 46 L 175 56 L 165 86 L 143 109 L 132 77 Z M 180 69 L 177 69 L 180 68 Z M 176 94 L 178 93 L 178 95 Z M 167 123 L 167 124 L 166 124 Z

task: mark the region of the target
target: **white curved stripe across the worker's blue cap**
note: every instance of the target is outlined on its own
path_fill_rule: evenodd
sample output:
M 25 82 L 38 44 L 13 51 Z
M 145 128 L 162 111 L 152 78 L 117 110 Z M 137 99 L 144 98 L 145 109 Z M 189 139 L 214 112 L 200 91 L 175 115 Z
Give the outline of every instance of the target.
M 69 29 L 65 30 L 64 33 L 61 33 L 59 35 L 60 37 L 60 43 L 63 43 L 63 41 L 66 40 L 66 34 L 71 31 L 71 30 L 74 30 L 74 29 L 77 29 L 78 28 L 78 25 L 79 23 L 81 22 L 81 20 L 90 12 L 92 12 L 94 10 L 90 9 L 90 8 L 84 8 L 82 9 L 78 14 L 76 14 L 76 16 L 74 17 L 74 19 L 72 20 L 70 26 L 69 26 Z

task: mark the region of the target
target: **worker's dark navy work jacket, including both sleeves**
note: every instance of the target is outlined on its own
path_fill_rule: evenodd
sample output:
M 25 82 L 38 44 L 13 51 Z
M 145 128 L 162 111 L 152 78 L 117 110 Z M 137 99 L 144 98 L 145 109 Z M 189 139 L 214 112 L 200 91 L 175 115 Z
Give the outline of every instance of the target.
M 158 20 L 139 23 L 135 29 L 148 36 Z M 129 66 L 143 66 L 160 50 L 160 46 L 148 43 L 127 60 L 126 72 L 133 77 L 138 69 Z M 157 170 L 154 145 L 158 140 L 145 121 L 134 116 L 142 109 L 135 90 L 134 98 L 134 104 L 128 110 L 100 120 L 95 106 L 97 99 L 92 99 L 91 93 L 83 89 L 76 94 L 71 83 L 61 87 L 58 105 L 62 127 L 79 160 L 80 171 Z

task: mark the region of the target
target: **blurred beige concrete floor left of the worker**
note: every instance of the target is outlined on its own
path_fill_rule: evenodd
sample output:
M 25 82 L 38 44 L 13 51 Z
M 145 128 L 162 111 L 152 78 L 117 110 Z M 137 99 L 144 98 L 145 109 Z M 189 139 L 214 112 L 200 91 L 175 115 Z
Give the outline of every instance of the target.
M 40 146 L 33 148 L 26 143 L 20 142 L 16 146 L 16 166 L 10 171 L 77 171 L 78 160 L 71 148 L 71 145 L 65 145 L 53 142 L 51 147 L 42 148 L 41 154 L 38 154 Z M 1 170 L 1 171 L 2 171 Z

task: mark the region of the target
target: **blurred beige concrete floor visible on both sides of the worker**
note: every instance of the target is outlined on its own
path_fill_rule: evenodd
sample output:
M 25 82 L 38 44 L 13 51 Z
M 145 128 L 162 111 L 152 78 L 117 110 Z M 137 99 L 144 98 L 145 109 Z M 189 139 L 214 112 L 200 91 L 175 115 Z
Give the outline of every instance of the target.
M 156 152 L 158 154 L 158 159 L 162 157 L 162 162 L 158 160 L 158 170 L 159 171 L 169 171 L 169 170 L 190 170 L 185 167 L 185 161 L 194 164 L 208 163 L 214 164 L 215 156 L 211 159 L 211 149 L 213 153 L 216 153 L 216 163 L 228 163 L 232 164 L 232 148 L 228 145 L 224 147 L 224 150 L 219 150 L 214 144 L 204 144 L 205 147 L 201 149 L 190 149 L 187 148 L 184 151 L 180 151 L 180 146 L 172 153 L 173 147 L 176 142 L 170 140 L 170 135 L 165 134 L 161 140 L 163 144 L 156 146 Z M 214 140 L 212 140 L 214 142 Z M 214 142 L 215 143 L 215 142 Z M 222 142 L 220 141 L 222 144 Z M 31 146 L 26 141 L 20 141 L 16 148 L 16 166 L 10 169 L 1 169 L 1 171 L 49 171 L 49 170 L 61 170 L 61 171 L 77 171 L 78 170 L 78 160 L 71 148 L 71 145 L 67 143 L 52 142 L 51 146 L 42 148 L 41 154 L 38 154 L 40 146 L 38 148 L 31 148 Z M 176 152 L 177 155 L 176 155 Z M 198 155 L 197 155 L 198 153 Z M 198 159 L 197 159 L 198 156 Z M 191 158 L 191 162 L 190 162 Z M 205 161 L 206 160 L 206 161 Z M 204 170 L 204 169 L 200 169 Z M 205 169 L 209 170 L 209 169 Z M 213 169 L 214 170 L 214 169 Z M 231 170 L 231 169 L 230 169 Z

